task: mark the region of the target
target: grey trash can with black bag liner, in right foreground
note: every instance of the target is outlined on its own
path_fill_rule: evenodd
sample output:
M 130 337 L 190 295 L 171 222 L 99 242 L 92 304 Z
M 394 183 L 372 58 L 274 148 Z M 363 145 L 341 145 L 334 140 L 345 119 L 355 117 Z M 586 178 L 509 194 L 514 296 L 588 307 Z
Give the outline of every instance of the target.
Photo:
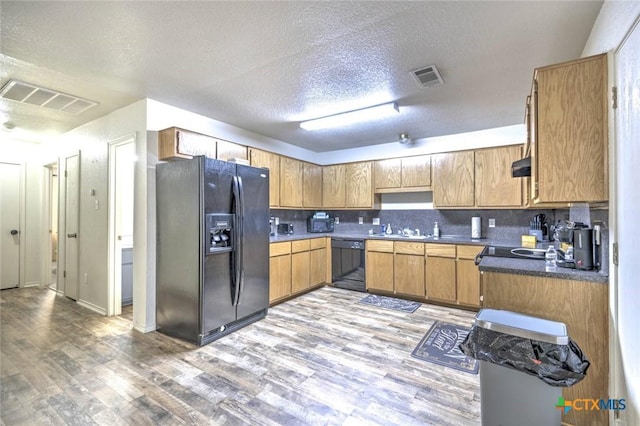
M 589 367 L 565 324 L 510 311 L 480 310 L 460 349 L 480 361 L 483 426 L 560 425 L 562 387 Z

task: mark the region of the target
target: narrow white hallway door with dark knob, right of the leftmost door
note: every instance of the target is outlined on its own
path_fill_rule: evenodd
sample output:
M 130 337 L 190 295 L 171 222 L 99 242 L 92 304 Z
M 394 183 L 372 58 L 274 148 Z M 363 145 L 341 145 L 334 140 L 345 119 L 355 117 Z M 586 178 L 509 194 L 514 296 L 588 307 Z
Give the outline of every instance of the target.
M 73 155 L 65 159 L 65 264 L 64 295 L 78 300 L 78 242 L 80 198 L 80 156 Z

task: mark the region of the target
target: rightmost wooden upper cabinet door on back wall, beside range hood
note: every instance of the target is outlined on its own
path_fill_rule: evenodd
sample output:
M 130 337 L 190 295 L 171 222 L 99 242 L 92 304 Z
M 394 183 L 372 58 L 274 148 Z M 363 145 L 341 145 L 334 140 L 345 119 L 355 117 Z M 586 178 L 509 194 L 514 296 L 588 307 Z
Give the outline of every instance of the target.
M 475 152 L 476 206 L 522 206 L 522 180 L 511 177 L 511 163 L 521 158 L 521 145 Z

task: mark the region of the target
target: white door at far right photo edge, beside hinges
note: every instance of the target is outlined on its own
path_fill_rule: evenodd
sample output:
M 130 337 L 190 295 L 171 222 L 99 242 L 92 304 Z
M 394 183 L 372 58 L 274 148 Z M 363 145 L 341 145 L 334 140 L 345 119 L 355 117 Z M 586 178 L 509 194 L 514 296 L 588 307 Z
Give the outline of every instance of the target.
M 618 108 L 615 112 L 616 167 L 615 214 L 618 242 L 617 308 L 618 342 L 623 365 L 618 377 L 630 390 L 618 397 L 631 398 L 628 404 L 640 410 L 640 340 L 638 339 L 638 300 L 640 300 L 640 22 L 616 52 L 616 82 Z M 614 266 L 613 276 L 616 276 Z M 615 305 L 614 305 L 615 306 Z M 632 390 L 635 387 L 635 392 Z M 617 389 L 619 392 L 620 390 Z M 633 396 L 632 394 L 635 394 Z M 628 405 L 628 406 L 629 406 Z M 634 410 L 620 414 L 629 416 Z M 638 411 L 636 411 L 638 413 Z M 639 424 L 640 419 L 627 418 L 626 424 Z

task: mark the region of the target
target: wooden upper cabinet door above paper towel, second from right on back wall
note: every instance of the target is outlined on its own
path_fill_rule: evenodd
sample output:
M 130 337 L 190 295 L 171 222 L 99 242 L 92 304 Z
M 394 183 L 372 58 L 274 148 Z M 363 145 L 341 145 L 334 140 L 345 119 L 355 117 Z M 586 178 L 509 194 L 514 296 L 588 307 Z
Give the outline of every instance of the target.
M 437 207 L 473 207 L 473 151 L 449 152 L 434 157 L 433 204 Z

